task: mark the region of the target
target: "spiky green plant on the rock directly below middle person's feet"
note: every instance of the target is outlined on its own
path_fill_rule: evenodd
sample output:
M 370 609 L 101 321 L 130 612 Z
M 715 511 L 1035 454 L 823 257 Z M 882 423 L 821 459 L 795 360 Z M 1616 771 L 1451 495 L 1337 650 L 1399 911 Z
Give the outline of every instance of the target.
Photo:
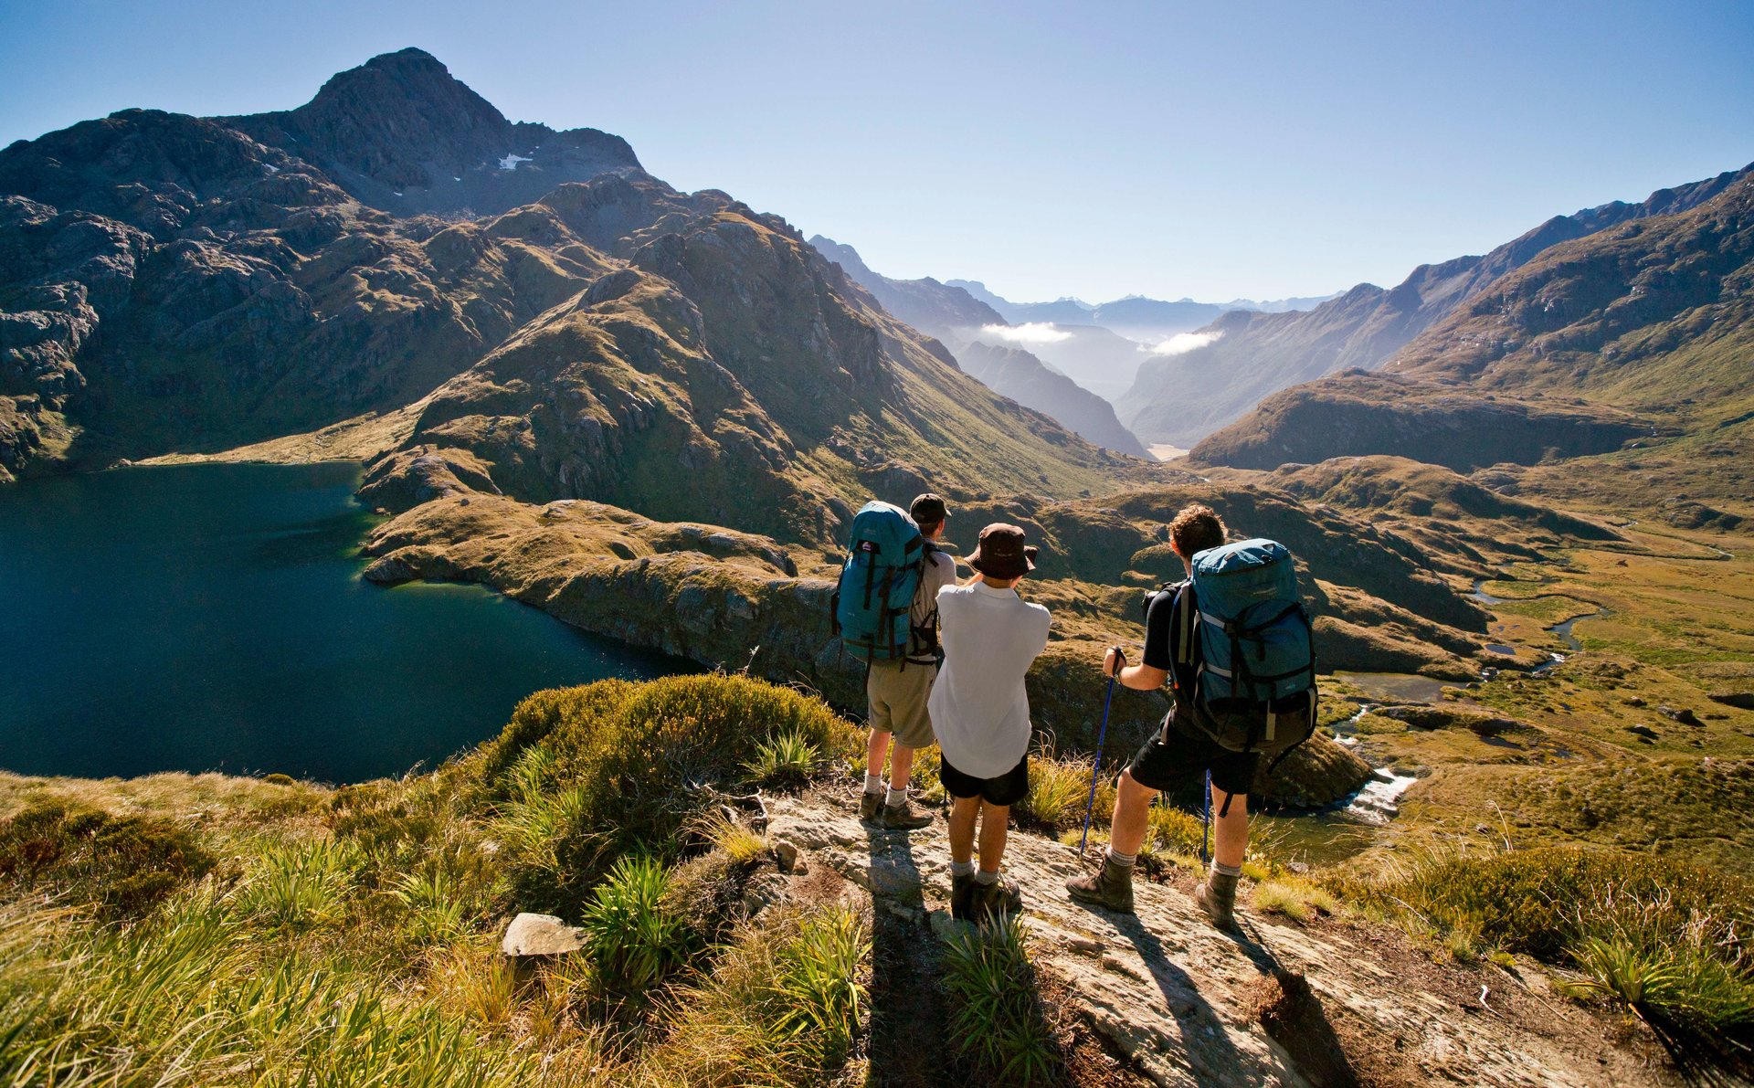
M 951 1030 L 961 1055 L 995 1084 L 1049 1084 L 1059 1051 L 1042 1014 L 1023 920 L 1002 916 L 951 939 L 944 956 Z

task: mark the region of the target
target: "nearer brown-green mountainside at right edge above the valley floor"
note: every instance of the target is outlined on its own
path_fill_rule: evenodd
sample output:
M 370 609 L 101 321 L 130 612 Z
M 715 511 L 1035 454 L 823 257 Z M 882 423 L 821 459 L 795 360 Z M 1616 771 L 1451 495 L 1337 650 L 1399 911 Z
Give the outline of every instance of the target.
M 1754 495 L 1754 167 L 1545 228 L 1519 242 L 1593 230 L 1475 261 L 1512 267 L 1452 291 L 1380 372 L 1284 390 L 1191 456 L 1540 463 L 1552 491 L 1689 528 L 1736 521 L 1700 498 L 1749 512 Z M 1552 465 L 1579 455 L 1600 460 Z

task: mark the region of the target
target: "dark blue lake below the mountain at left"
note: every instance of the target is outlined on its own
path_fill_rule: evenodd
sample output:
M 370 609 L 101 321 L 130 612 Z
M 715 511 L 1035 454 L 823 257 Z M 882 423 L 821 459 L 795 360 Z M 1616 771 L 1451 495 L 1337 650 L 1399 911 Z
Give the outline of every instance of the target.
M 363 781 L 495 735 L 538 688 L 689 669 L 479 586 L 361 581 L 358 476 L 0 486 L 0 769 Z

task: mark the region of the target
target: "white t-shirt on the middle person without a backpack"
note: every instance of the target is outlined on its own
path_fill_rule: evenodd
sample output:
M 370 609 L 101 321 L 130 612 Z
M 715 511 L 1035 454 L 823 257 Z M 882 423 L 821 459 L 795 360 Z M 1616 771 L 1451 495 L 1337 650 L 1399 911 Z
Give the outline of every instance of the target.
M 1047 648 L 1047 609 L 1016 590 L 938 590 L 944 669 L 926 709 L 944 758 L 963 774 L 998 777 L 1030 751 L 1023 674 Z

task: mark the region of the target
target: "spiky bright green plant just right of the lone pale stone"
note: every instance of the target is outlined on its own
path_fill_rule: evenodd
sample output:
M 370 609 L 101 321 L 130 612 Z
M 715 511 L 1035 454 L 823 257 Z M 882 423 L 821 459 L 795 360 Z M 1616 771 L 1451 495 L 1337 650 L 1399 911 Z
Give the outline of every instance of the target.
M 621 858 L 598 884 L 581 928 L 598 977 L 619 993 L 656 986 L 696 948 L 689 920 L 665 902 L 670 877 L 656 858 Z

